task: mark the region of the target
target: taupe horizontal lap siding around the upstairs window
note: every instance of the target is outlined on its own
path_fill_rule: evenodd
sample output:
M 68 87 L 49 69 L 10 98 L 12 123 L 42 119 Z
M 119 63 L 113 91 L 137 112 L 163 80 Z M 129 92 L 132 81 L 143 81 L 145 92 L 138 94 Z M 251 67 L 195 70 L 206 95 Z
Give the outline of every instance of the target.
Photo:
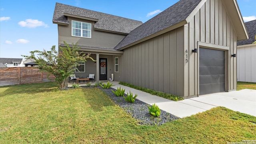
M 91 38 L 83 38 L 78 36 L 72 36 L 72 20 L 80 22 L 88 22 L 92 24 Z M 68 44 L 75 44 L 78 42 L 79 46 L 94 46 L 94 47 L 104 47 L 104 48 L 114 48 L 126 35 L 116 34 L 111 32 L 103 32 L 99 30 L 94 30 L 94 21 L 83 20 L 79 18 L 68 17 L 70 24 L 68 26 L 63 26 L 58 24 L 58 44 L 63 44 L 67 42 Z

